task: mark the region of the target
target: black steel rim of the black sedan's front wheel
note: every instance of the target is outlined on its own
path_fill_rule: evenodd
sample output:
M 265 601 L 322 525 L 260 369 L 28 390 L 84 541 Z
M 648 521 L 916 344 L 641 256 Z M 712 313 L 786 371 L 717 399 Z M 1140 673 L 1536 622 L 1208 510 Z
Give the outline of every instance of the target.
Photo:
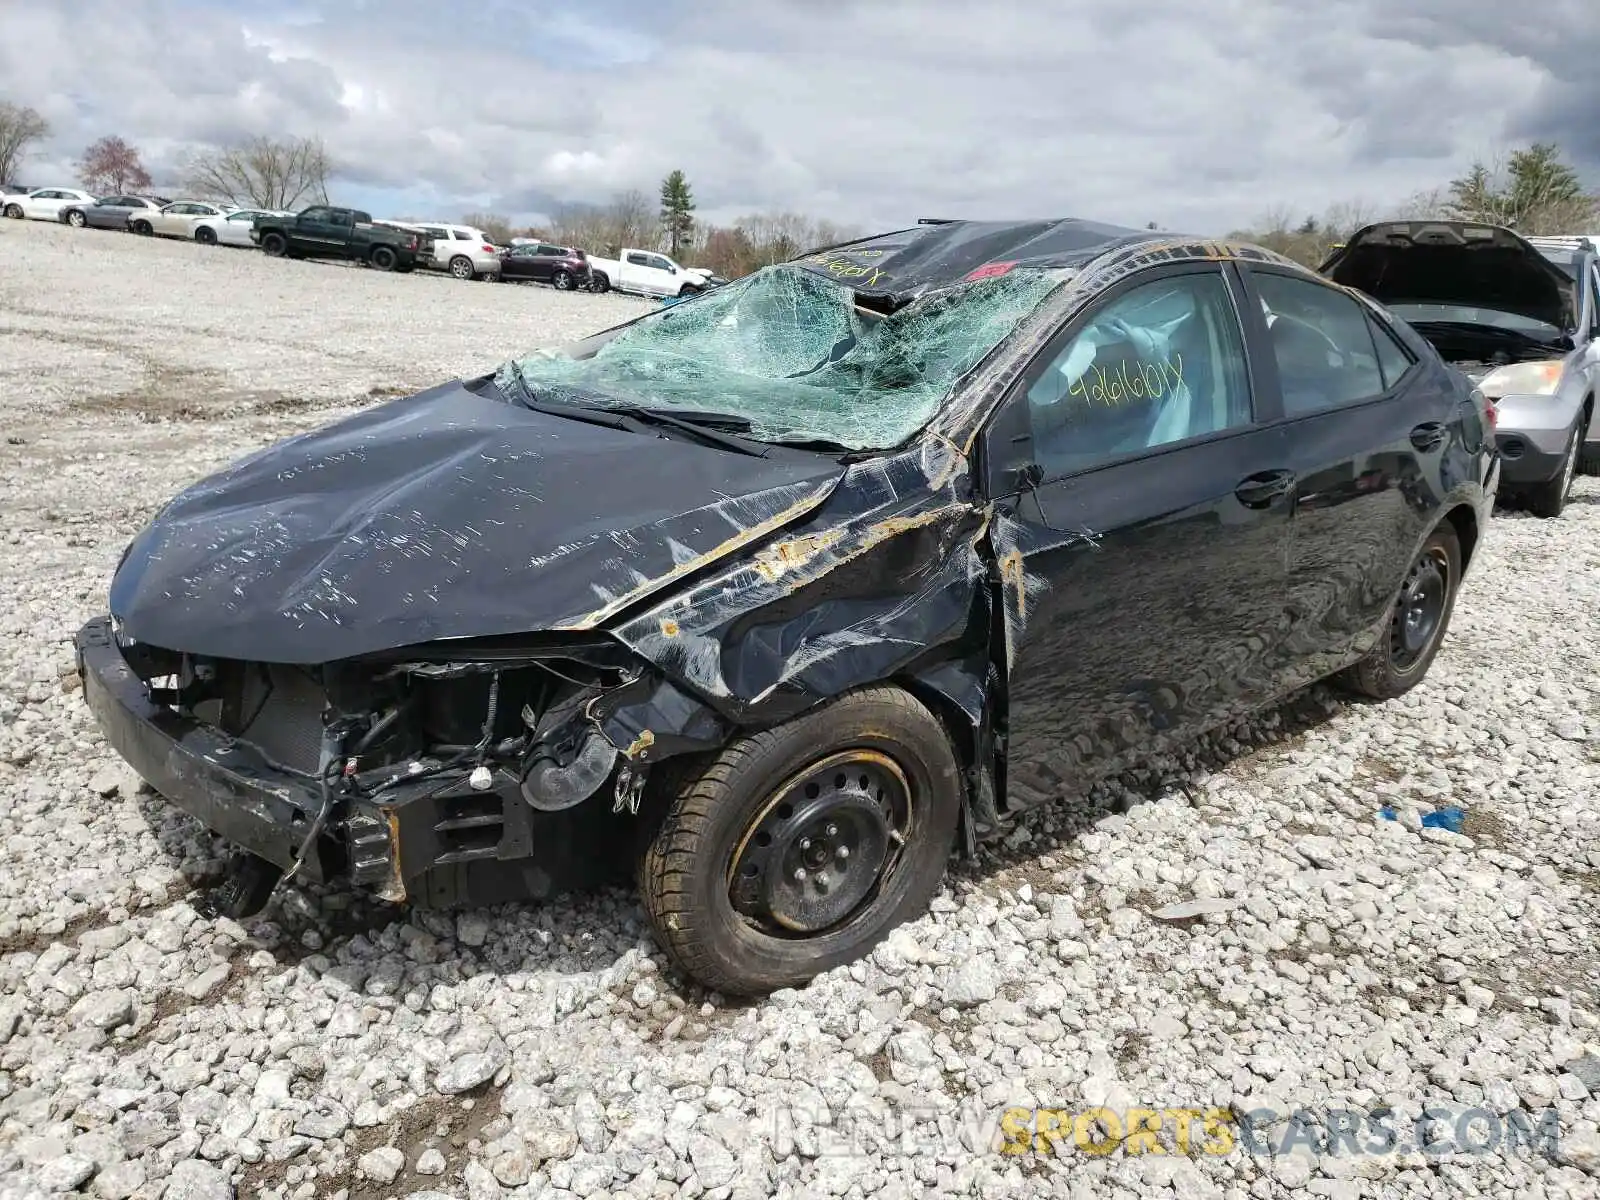
M 882 894 L 912 834 L 906 773 L 878 750 L 830 754 L 781 784 L 730 856 L 736 914 L 778 938 L 848 925 Z

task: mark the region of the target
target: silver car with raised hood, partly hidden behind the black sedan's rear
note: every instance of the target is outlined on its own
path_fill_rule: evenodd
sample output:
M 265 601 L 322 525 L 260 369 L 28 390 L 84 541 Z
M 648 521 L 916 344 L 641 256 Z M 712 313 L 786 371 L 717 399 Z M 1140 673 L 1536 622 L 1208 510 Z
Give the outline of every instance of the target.
M 1389 307 L 1494 405 L 1501 491 L 1558 517 L 1579 466 L 1600 472 L 1600 267 L 1586 238 L 1462 221 L 1387 221 L 1323 274 Z

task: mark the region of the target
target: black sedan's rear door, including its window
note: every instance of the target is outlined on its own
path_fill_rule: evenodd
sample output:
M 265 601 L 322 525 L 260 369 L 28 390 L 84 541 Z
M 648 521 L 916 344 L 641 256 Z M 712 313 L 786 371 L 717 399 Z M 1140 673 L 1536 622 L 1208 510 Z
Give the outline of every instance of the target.
M 1270 266 L 1243 275 L 1296 477 L 1290 635 L 1299 685 L 1373 645 L 1429 531 L 1459 422 L 1478 421 L 1350 293 Z

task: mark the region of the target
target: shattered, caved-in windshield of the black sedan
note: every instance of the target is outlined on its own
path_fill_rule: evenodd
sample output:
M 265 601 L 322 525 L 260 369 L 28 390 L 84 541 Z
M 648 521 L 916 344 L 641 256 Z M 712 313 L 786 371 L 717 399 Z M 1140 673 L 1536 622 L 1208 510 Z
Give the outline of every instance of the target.
M 896 446 L 1061 282 L 1016 269 L 923 296 L 890 315 L 794 266 L 674 304 L 589 357 L 534 354 L 501 386 L 598 408 L 731 414 L 762 442 Z

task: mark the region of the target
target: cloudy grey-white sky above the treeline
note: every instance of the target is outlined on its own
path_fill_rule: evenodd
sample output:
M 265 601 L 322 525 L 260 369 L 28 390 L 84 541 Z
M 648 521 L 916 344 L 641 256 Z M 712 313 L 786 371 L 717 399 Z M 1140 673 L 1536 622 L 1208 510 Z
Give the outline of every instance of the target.
M 1600 186 L 1600 5 L 1542 0 L 0 0 L 0 99 L 70 182 L 107 133 L 320 134 L 379 214 L 650 192 L 794 210 L 1224 232 L 1382 206 L 1558 139 Z

